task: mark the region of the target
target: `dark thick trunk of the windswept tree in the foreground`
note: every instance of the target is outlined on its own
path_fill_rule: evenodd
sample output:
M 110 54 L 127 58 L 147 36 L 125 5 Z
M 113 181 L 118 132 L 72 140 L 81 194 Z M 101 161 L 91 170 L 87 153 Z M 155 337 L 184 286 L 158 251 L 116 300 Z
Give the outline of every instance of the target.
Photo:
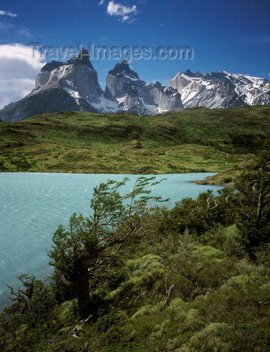
M 79 269 L 78 278 L 74 285 L 78 299 L 78 315 L 81 319 L 83 319 L 90 314 L 90 293 L 87 268 Z

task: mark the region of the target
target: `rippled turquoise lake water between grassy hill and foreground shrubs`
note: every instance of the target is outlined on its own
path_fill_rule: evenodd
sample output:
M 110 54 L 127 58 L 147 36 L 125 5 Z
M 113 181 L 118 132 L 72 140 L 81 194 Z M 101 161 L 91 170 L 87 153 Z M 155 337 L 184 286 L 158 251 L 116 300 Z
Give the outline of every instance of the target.
M 166 180 L 154 186 L 152 194 L 170 198 L 167 205 L 172 207 L 182 198 L 196 198 L 207 189 L 221 189 L 190 182 L 213 174 L 156 175 L 156 181 Z M 131 191 L 138 175 L 0 173 L 0 309 L 10 303 L 4 295 L 8 292 L 6 282 L 16 288 L 18 275 L 33 273 L 41 278 L 52 272 L 46 251 L 51 248 L 57 226 L 67 226 L 74 212 L 91 214 L 93 188 L 108 179 L 122 181 L 125 176 L 131 181 L 123 187 L 123 194 Z

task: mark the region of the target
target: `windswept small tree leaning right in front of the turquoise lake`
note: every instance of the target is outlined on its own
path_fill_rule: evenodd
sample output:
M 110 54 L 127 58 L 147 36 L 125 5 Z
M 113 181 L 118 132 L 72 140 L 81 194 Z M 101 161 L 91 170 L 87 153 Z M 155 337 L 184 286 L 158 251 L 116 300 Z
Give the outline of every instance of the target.
M 150 209 L 154 202 L 162 201 L 146 190 L 159 183 L 153 180 L 154 177 L 138 178 L 125 196 L 119 191 L 129 181 L 127 178 L 100 184 L 94 188 L 91 200 L 93 215 L 83 218 L 74 213 L 69 229 L 59 225 L 54 233 L 53 249 L 48 252 L 50 265 L 67 284 L 74 286 L 80 318 L 90 313 L 89 278 L 104 278 L 150 236 Z

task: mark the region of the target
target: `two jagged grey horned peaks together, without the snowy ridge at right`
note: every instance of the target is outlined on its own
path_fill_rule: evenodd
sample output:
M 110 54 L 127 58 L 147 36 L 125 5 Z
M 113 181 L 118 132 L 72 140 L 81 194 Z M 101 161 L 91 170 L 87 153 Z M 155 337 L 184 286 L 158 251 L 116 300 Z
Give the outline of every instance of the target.
M 103 92 L 88 51 L 82 49 L 79 55 L 66 62 L 46 63 L 36 76 L 36 88 L 25 98 L 0 110 L 0 119 L 15 122 L 63 110 L 127 111 L 143 116 L 181 109 L 181 95 L 176 90 L 159 82 L 146 84 L 126 61 L 116 64 L 108 73 Z

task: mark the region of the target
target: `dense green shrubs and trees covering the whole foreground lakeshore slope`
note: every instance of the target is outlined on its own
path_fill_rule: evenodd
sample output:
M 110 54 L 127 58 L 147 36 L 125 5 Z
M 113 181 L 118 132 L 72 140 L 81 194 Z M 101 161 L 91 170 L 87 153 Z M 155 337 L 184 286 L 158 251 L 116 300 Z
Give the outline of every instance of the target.
M 9 286 L 14 303 L 1 315 L 0 348 L 268 351 L 269 151 L 266 143 L 235 189 L 170 210 L 154 205 L 144 178 L 127 197 L 122 183 L 101 184 L 93 216 L 73 214 L 69 229 L 56 230 L 53 277 L 25 275 L 21 290 Z M 74 285 L 83 270 L 87 302 Z

